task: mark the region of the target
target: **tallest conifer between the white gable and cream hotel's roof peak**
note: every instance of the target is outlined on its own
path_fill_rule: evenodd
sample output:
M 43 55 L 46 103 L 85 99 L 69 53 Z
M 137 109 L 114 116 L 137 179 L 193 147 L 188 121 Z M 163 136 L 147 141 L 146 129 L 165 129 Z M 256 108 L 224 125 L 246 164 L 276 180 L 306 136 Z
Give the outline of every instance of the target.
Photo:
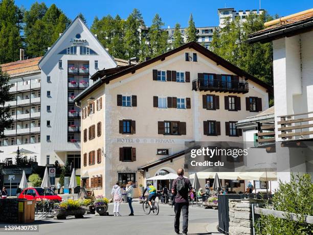
M 125 48 L 128 59 L 139 55 L 141 46 L 140 29 L 144 27 L 145 24 L 141 13 L 138 9 L 133 9 L 125 23 Z

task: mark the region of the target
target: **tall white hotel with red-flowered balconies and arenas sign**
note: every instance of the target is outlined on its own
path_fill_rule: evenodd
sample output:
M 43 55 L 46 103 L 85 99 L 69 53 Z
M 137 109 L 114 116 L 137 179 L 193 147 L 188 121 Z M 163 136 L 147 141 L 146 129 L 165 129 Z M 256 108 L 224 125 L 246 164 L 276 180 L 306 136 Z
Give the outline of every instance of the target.
M 39 165 L 69 160 L 79 169 L 81 112 L 74 99 L 91 86 L 92 74 L 116 66 L 79 17 L 43 57 L 1 65 L 11 76 L 12 100 L 5 105 L 14 119 L 0 142 L 1 160 L 14 158 L 19 146 L 34 152 L 28 157 Z

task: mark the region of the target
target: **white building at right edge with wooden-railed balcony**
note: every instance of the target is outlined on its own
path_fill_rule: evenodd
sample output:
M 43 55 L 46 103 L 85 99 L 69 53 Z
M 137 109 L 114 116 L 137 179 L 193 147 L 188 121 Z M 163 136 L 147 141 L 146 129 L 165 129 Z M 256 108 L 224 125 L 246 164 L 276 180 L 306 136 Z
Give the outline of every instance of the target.
M 239 123 L 247 141 L 255 138 L 258 145 L 274 151 L 278 179 L 289 181 L 290 173 L 313 172 L 313 10 L 264 26 L 249 35 L 247 42 L 273 42 L 275 106 L 265 116 Z M 257 128 L 247 127 L 253 125 Z

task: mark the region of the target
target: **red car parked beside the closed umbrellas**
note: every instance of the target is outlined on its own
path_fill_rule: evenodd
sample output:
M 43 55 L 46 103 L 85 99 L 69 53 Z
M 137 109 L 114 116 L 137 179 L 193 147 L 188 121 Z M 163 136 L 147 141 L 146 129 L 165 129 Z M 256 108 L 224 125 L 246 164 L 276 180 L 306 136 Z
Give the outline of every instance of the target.
M 25 198 L 28 200 L 40 200 L 44 198 L 48 200 L 53 200 L 55 202 L 62 201 L 62 198 L 55 194 L 54 191 L 52 191 L 50 188 L 43 189 L 41 187 L 25 188 L 23 191 L 21 191 L 18 198 Z

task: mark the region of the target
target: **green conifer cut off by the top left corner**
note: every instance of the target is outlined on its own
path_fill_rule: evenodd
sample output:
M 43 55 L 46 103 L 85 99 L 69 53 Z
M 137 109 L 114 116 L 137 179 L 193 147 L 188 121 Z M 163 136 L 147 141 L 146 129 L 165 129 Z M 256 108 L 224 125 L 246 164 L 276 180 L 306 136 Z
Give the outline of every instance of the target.
M 0 2 L 0 64 L 19 58 L 19 49 L 23 47 L 19 32 L 21 14 L 13 0 Z

